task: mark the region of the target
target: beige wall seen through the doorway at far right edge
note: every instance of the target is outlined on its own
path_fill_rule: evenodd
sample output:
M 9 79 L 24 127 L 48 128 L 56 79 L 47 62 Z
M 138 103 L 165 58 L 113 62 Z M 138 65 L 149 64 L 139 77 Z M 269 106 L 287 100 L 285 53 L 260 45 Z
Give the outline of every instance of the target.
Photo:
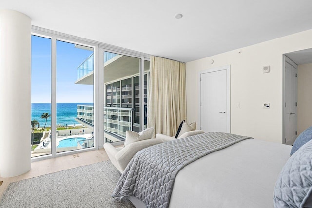
M 312 63 L 298 65 L 298 135 L 312 126 Z

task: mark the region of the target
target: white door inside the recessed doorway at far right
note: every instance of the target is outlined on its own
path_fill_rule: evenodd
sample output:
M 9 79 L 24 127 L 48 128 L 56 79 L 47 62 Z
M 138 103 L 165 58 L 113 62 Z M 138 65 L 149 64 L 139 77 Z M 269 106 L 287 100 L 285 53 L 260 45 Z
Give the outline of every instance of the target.
M 297 138 L 297 65 L 286 58 L 285 103 L 284 103 L 284 144 L 293 145 Z

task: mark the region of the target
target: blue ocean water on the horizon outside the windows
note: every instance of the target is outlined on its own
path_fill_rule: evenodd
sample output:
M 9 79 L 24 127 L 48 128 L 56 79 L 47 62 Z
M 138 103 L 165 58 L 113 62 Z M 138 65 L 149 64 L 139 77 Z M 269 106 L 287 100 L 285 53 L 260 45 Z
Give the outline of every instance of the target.
M 77 105 L 93 105 L 93 103 L 57 103 L 57 125 L 66 126 L 79 124 L 74 118 L 77 117 Z M 51 114 L 51 103 L 32 103 L 31 119 L 36 119 L 40 127 L 44 127 L 45 119 L 41 118 L 42 113 Z M 30 122 L 30 121 L 29 121 Z M 47 120 L 46 127 L 51 126 L 51 117 Z

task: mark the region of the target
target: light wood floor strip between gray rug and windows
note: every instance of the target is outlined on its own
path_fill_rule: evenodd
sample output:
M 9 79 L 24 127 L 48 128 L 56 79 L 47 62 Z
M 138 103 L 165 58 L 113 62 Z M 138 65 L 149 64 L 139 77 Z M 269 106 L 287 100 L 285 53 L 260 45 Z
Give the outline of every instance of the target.
M 77 156 L 78 155 L 78 156 Z M 108 156 L 104 149 L 76 153 L 47 160 L 41 160 L 31 163 L 31 170 L 23 175 L 1 178 L 0 177 L 0 196 L 11 182 L 23 179 L 33 178 L 39 175 L 45 175 L 52 172 L 76 168 L 79 166 L 89 165 L 97 162 L 108 160 Z M 1 181 L 2 185 L 1 185 Z

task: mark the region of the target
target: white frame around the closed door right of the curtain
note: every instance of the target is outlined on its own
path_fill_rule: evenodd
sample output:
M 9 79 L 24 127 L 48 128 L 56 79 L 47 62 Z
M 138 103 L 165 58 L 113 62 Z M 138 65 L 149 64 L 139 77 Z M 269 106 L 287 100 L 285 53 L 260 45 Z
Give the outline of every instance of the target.
M 227 103 L 226 103 L 226 111 L 227 111 L 227 133 L 231 133 L 231 65 L 216 67 L 212 69 L 206 69 L 198 72 L 198 83 L 199 83 L 199 126 L 201 129 L 201 74 L 206 74 L 210 72 L 216 72 L 226 70 L 226 96 L 227 96 Z

